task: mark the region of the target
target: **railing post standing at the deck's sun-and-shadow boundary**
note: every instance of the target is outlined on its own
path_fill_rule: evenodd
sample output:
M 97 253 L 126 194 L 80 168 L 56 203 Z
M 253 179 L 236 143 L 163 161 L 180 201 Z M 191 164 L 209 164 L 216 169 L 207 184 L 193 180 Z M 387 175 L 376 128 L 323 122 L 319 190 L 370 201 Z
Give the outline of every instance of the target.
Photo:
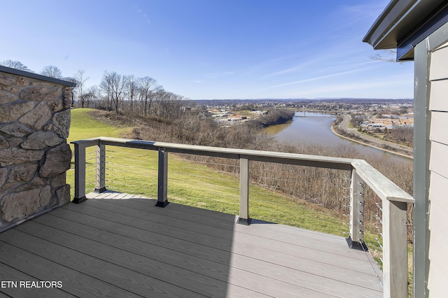
M 249 225 L 249 160 L 245 155 L 239 157 L 239 217 L 238 223 Z

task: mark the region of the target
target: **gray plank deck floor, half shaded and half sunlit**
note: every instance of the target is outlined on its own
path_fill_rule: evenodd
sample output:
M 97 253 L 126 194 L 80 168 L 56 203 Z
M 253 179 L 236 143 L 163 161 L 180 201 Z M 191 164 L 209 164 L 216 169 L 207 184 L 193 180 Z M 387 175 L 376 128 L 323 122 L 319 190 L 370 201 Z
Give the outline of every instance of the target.
M 233 215 L 126 194 L 94 197 L 0 234 L 0 297 L 383 295 L 370 253 L 343 237 L 237 225 Z

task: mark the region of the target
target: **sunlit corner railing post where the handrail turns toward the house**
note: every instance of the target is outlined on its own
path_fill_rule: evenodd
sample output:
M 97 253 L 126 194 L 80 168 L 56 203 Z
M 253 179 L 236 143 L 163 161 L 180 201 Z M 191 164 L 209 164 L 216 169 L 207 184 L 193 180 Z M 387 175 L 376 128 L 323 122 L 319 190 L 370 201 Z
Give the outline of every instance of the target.
M 351 171 L 350 185 L 350 236 L 347 239 L 350 248 L 367 250 L 364 243 L 364 181 Z

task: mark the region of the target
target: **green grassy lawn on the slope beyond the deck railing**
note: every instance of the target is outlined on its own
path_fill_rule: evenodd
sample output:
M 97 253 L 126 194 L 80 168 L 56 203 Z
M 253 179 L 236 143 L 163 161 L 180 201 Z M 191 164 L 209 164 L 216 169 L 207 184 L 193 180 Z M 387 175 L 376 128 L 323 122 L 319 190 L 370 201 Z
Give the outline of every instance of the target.
M 73 109 L 69 141 L 95 136 L 120 137 L 130 128 L 116 128 L 92 118 L 87 108 Z M 73 149 L 73 148 L 72 148 Z M 86 188 L 94 189 L 94 152 L 87 148 Z M 106 148 L 106 188 L 147 197 L 157 197 L 157 152 L 108 146 Z M 209 169 L 204 164 L 169 155 L 168 200 L 174 203 L 207 208 L 230 214 L 239 212 L 239 178 Z M 72 168 L 73 168 L 72 164 Z M 72 185 L 73 169 L 67 173 Z M 278 192 L 250 186 L 250 216 L 318 232 L 344 236 L 345 218 L 325 208 L 297 201 Z

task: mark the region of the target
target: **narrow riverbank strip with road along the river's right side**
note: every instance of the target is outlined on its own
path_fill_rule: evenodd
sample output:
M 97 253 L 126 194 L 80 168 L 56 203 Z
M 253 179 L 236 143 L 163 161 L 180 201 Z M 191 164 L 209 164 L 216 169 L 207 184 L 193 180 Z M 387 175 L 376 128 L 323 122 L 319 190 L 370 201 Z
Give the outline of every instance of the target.
M 356 132 L 346 132 L 338 124 L 336 124 L 336 121 L 337 120 L 333 121 L 331 126 L 330 126 L 331 132 L 333 134 L 335 134 L 336 136 L 339 136 L 339 137 L 341 137 L 343 139 L 347 139 L 347 140 L 355 142 L 355 143 L 359 143 L 359 144 L 364 145 L 364 146 L 369 146 L 369 147 L 372 147 L 372 148 L 375 148 L 375 149 L 378 149 L 378 150 L 381 150 L 381 151 L 384 151 L 384 152 L 388 152 L 388 153 L 391 153 L 391 154 L 394 154 L 394 155 L 399 155 L 399 156 L 406 157 L 406 158 L 409 158 L 409 159 L 414 159 L 414 155 L 411 154 L 408 150 L 402 150 L 402 149 L 396 148 L 396 147 L 395 148 L 391 148 L 388 145 L 388 143 L 386 143 L 386 141 L 377 139 L 377 140 L 375 140 L 375 143 L 377 143 L 377 144 L 379 144 L 381 146 L 388 146 L 389 148 L 391 148 L 393 150 L 388 149 L 388 148 L 384 148 L 384 147 L 381 147 L 381 146 L 377 146 L 375 143 L 373 143 L 372 141 L 367 139 L 365 136 L 363 136 L 363 134 L 359 134 L 359 133 L 356 134 Z M 340 132 L 337 132 L 338 129 L 340 129 Z M 350 136 L 350 134 L 352 136 Z M 353 137 L 353 136 L 356 136 L 356 137 Z M 398 144 L 396 144 L 396 145 L 398 145 Z

